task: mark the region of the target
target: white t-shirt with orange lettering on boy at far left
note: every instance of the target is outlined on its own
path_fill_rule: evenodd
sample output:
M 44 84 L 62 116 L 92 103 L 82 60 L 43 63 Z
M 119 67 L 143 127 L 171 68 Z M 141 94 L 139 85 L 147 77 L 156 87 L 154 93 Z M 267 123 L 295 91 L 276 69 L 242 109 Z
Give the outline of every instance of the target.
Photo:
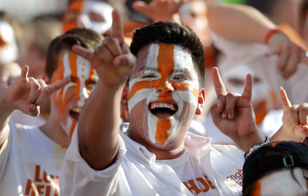
M 9 126 L 0 150 L 1 195 L 59 195 L 59 177 L 66 149 L 38 127 Z

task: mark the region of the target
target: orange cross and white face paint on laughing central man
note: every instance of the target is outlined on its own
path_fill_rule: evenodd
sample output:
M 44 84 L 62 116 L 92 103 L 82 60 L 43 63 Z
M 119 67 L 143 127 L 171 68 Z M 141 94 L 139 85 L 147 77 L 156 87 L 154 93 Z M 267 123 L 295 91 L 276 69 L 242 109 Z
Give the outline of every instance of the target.
M 136 104 L 143 103 L 144 130 L 148 129 L 144 135 L 152 143 L 168 144 L 176 136 L 180 119 L 184 116 L 184 104 L 197 107 L 196 78 L 192 57 L 187 51 L 176 45 L 149 46 L 138 76 L 129 82 L 128 109 L 132 115 Z M 156 113 L 155 108 L 170 109 Z M 172 114 L 172 110 L 176 112 Z

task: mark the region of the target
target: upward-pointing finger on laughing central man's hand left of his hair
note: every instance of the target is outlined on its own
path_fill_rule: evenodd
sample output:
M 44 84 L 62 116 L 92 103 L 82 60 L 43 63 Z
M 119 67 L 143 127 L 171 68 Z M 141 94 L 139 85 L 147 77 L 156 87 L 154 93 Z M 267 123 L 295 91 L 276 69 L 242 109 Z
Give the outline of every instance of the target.
M 120 12 L 118 10 L 112 11 L 112 36 L 119 40 L 119 44 L 122 47 L 124 43 L 124 32 Z

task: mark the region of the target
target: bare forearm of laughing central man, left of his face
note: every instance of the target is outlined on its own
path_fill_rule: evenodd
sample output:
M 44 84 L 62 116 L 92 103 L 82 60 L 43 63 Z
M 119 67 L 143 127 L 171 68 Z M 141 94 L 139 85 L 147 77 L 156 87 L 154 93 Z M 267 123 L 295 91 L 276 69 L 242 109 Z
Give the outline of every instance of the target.
M 80 153 L 95 170 L 109 167 L 118 151 L 121 85 L 107 85 L 100 79 L 79 117 Z

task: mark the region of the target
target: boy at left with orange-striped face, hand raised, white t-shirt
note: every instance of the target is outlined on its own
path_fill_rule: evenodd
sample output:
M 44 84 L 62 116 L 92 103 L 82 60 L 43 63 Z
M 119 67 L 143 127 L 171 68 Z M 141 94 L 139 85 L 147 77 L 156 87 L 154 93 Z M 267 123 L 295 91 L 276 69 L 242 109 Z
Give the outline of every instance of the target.
M 59 195 L 63 156 L 79 112 L 98 79 L 91 63 L 73 53 L 71 46 L 80 44 L 93 51 L 101 41 L 102 36 L 91 30 L 68 31 L 49 45 L 49 81 L 28 78 L 29 68 L 24 66 L 19 79 L 0 92 L 2 195 Z M 15 109 L 38 116 L 39 106 L 50 97 L 51 113 L 43 126 L 9 121 Z

